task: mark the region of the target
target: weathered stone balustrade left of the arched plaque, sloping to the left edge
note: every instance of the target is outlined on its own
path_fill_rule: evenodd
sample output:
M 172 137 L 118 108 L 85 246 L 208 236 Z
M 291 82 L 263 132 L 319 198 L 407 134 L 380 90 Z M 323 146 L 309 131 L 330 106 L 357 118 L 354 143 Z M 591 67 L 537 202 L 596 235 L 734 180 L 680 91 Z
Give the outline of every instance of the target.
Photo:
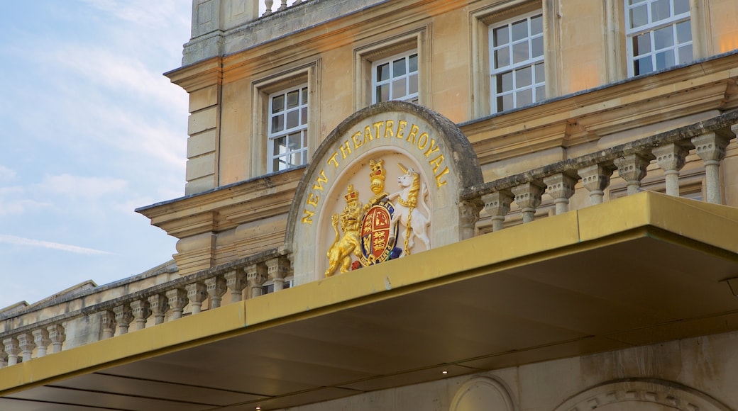
M 267 250 L 63 315 L 5 329 L 0 332 L 0 368 L 46 356 L 49 346 L 50 353 L 71 348 L 63 344 L 66 333 L 70 327 L 80 333 L 79 323 L 98 324 L 99 329 L 88 326 L 83 333 L 94 334 L 92 341 L 105 340 L 128 333 L 131 323 L 135 324 L 135 331 L 185 314 L 196 315 L 208 299 L 209 308 L 217 308 L 229 289 L 231 302 L 241 301 L 244 290 L 249 297 L 261 295 L 265 281 L 273 281 L 275 292 L 279 291 L 289 271 L 289 260 L 279 250 Z M 185 313 L 187 309 L 189 312 Z

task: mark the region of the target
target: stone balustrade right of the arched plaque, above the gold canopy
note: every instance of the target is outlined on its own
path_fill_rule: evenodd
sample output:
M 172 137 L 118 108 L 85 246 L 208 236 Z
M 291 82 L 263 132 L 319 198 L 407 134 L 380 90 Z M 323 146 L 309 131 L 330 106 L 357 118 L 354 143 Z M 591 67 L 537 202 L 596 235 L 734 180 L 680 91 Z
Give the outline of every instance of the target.
M 624 180 L 627 194 L 635 194 L 652 161 L 663 172 L 666 194 L 678 196 L 679 171 L 692 152 L 703 161 L 704 200 L 720 204 L 720 163 L 729 141 L 736 137 L 737 124 L 738 110 L 733 110 L 703 122 L 469 187 L 461 193 L 461 200 L 483 203 L 492 231 L 498 231 L 504 227 L 513 203 L 520 208 L 523 223 L 533 221 L 544 193 L 553 198 L 555 214 L 565 213 L 580 181 L 592 205 L 604 201 L 605 189 L 615 172 Z

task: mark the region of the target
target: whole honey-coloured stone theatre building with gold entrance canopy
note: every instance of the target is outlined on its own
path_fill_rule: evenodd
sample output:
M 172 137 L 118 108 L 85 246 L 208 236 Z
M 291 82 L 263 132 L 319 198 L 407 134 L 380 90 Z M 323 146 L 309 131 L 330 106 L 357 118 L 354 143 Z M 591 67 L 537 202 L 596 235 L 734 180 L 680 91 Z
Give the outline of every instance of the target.
M 174 261 L 0 409 L 738 410 L 738 3 L 289 3 L 193 1 Z

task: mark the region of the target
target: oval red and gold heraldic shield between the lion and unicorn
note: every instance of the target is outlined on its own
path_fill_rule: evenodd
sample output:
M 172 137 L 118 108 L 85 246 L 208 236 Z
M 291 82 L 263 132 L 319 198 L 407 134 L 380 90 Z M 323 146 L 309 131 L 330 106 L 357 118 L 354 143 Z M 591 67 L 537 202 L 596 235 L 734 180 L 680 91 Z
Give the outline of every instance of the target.
M 390 259 L 398 225 L 392 231 L 392 216 L 395 208 L 389 201 L 372 205 L 362 220 L 362 256 L 359 259 L 363 266 L 376 264 Z

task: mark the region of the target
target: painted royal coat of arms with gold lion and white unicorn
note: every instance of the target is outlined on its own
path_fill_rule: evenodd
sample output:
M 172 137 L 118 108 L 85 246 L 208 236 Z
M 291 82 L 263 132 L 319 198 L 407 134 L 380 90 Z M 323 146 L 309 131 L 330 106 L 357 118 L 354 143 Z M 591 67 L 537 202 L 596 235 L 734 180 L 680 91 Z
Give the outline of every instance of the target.
M 402 164 L 398 166 L 404 174 L 397 179 L 400 189 L 396 193 L 384 192 L 386 170 L 381 159 L 369 162 L 373 196 L 368 203 L 362 204 L 354 185 L 348 185 L 344 196 L 345 208 L 340 214 L 331 216 L 335 239 L 327 253 L 326 277 L 334 275 L 337 270 L 346 273 L 348 270 L 409 255 L 415 238 L 430 247 L 427 235 L 430 208 L 424 200 L 427 188 L 421 184 L 418 172 L 407 169 Z M 424 208 L 424 212 L 418 209 L 418 205 Z M 403 231 L 400 230 L 401 227 L 404 228 Z M 404 241 L 398 245 L 396 242 L 400 238 L 399 234 L 402 234 Z

